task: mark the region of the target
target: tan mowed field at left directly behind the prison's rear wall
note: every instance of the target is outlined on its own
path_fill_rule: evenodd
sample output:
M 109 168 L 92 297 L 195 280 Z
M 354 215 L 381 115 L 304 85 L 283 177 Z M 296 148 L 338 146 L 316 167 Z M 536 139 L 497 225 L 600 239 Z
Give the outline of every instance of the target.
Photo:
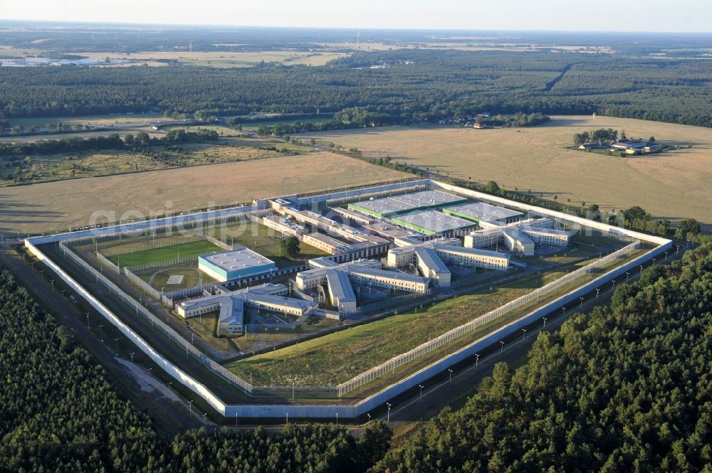
M 0 231 L 43 233 L 97 221 L 403 179 L 408 174 L 321 152 L 0 188 Z

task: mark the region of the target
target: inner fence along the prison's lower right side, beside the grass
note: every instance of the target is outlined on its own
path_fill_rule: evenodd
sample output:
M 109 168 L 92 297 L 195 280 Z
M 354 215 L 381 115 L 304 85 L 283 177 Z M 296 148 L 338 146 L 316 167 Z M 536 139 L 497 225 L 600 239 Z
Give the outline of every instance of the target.
M 345 395 L 346 393 L 349 393 L 350 391 L 355 390 L 356 388 L 359 388 L 360 386 L 363 386 L 366 383 L 369 383 L 370 381 L 373 381 L 386 373 L 390 373 L 395 368 L 398 368 L 399 366 L 413 361 L 419 356 L 428 354 L 429 352 L 438 349 L 439 347 L 445 344 L 448 344 L 450 341 L 457 339 L 465 334 L 468 334 L 474 329 L 477 329 L 478 327 L 483 326 L 484 324 L 488 324 L 489 322 L 497 319 L 498 317 L 501 317 L 504 314 L 513 311 L 514 309 L 517 309 L 518 307 L 522 307 L 528 302 L 531 302 L 545 294 L 555 291 L 559 287 L 562 287 L 563 285 L 566 285 L 567 283 L 575 280 L 577 277 L 586 275 L 598 267 L 603 267 L 613 260 L 616 260 L 620 257 L 624 257 L 639 246 L 640 241 L 637 240 L 634 243 L 631 243 L 630 245 L 627 245 L 626 247 L 621 248 L 620 250 L 617 250 L 614 253 L 611 253 L 610 255 L 606 255 L 600 258 L 599 260 L 592 262 L 590 265 L 580 267 L 579 269 L 570 272 L 569 274 L 560 277 L 559 279 L 553 282 L 550 282 L 548 285 L 542 286 L 539 289 L 535 289 L 529 294 L 525 294 L 522 297 L 518 297 L 517 299 L 514 299 L 513 301 L 508 302 L 507 304 L 504 304 L 503 306 L 498 307 L 497 309 L 494 309 L 491 312 L 488 312 L 487 314 L 484 314 L 474 319 L 473 321 L 468 322 L 467 324 L 456 327 L 451 331 L 447 331 L 436 339 L 417 346 L 411 351 L 407 351 L 404 354 L 396 356 L 390 359 L 389 361 L 382 363 L 379 366 L 376 366 L 375 368 L 371 368 L 370 370 L 365 371 L 364 373 L 361 373 L 358 376 L 355 376 L 355 378 L 352 378 L 349 381 L 338 385 L 337 388 L 339 390 L 339 395 Z

